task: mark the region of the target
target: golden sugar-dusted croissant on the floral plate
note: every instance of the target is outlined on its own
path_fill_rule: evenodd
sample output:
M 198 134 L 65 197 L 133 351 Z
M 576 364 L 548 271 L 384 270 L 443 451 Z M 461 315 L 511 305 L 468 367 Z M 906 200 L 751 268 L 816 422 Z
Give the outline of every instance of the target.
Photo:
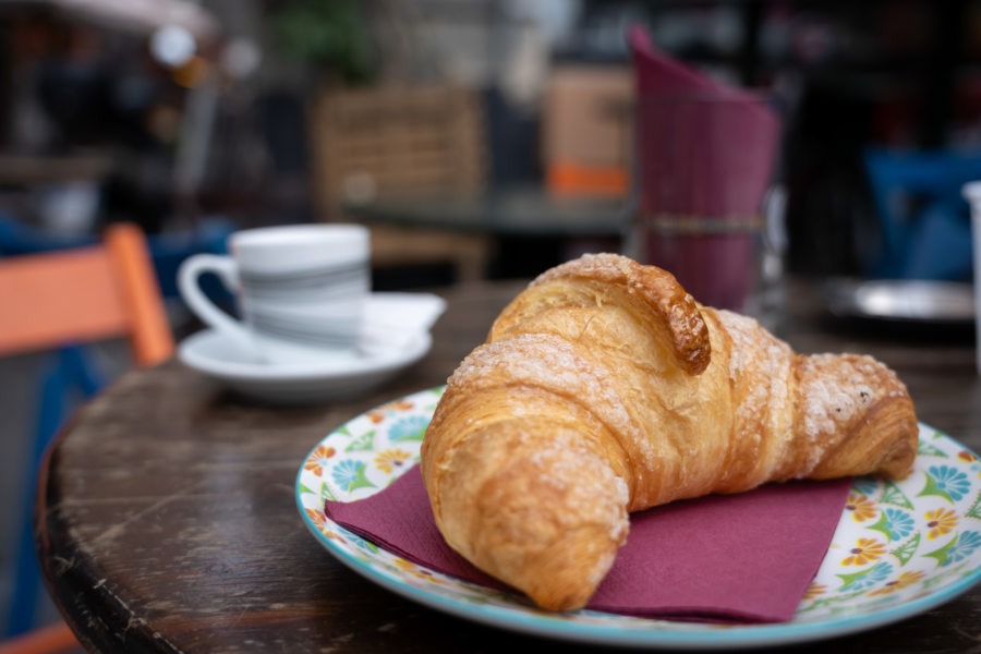
M 584 606 L 628 514 L 767 482 L 903 476 L 913 404 L 869 356 L 803 356 L 667 271 L 584 255 L 535 279 L 447 383 L 422 475 L 447 543 L 545 609 Z

